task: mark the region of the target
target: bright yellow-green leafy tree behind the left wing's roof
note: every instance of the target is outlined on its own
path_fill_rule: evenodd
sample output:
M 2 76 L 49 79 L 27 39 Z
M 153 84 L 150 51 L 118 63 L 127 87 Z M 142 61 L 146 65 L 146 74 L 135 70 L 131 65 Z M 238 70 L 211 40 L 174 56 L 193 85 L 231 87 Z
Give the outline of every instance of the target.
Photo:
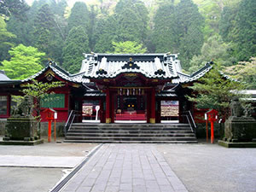
M 9 50 L 9 55 L 10 61 L 4 60 L 3 67 L 0 68 L 10 79 L 26 79 L 43 68 L 41 61 L 45 54 L 39 52 L 37 48 L 19 44 Z

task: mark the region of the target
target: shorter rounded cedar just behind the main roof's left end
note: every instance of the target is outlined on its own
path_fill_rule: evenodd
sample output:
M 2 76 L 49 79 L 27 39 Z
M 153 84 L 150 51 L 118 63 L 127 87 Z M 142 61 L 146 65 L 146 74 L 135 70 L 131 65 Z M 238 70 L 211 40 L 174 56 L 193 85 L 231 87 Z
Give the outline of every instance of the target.
M 89 39 L 84 27 L 73 27 L 68 33 L 63 48 L 63 67 L 69 73 L 78 73 L 84 59 L 83 53 L 89 53 L 89 51 Z

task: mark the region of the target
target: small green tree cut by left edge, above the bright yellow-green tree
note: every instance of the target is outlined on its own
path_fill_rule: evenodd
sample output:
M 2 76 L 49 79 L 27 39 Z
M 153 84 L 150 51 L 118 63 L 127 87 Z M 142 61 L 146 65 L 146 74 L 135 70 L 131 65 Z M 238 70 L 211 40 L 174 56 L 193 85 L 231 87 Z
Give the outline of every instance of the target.
M 8 32 L 6 29 L 6 24 L 2 17 L 0 16 L 0 58 L 8 58 L 8 50 L 14 46 L 12 40 L 16 36 Z

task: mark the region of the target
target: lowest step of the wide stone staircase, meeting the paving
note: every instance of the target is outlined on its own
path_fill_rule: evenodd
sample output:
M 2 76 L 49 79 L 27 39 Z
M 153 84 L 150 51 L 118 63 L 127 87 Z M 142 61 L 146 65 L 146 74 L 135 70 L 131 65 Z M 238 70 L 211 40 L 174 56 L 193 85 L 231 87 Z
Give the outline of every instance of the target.
M 198 143 L 195 141 L 112 141 L 112 140 L 64 140 L 64 143 Z

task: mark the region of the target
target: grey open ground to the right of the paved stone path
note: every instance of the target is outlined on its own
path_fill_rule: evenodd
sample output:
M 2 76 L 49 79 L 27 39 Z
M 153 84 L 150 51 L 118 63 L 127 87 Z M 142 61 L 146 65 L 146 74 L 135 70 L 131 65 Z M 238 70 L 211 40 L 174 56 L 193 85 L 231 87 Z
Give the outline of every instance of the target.
M 255 192 L 256 148 L 218 144 L 159 144 L 172 170 L 190 192 Z

